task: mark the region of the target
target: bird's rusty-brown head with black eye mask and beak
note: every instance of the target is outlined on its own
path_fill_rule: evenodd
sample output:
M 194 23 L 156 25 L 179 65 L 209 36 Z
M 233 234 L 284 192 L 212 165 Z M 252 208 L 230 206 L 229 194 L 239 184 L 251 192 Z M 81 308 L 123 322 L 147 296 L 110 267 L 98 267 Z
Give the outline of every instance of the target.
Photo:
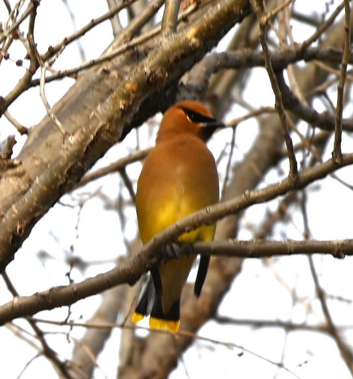
M 157 142 L 190 133 L 207 141 L 218 127 L 224 127 L 200 102 L 183 100 L 174 104 L 164 114 L 157 134 Z

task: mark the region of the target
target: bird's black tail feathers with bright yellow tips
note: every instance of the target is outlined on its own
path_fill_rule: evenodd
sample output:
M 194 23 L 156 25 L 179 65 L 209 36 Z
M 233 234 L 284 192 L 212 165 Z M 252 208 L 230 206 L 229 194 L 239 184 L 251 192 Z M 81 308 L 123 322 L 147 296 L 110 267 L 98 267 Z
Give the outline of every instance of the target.
M 149 278 L 131 320 L 136 323 L 148 315 L 151 315 L 150 327 L 153 329 L 168 329 L 172 332 L 177 332 L 179 329 L 180 299 L 172 304 L 167 313 L 164 313 L 162 308 L 161 293 L 156 293 L 152 275 Z

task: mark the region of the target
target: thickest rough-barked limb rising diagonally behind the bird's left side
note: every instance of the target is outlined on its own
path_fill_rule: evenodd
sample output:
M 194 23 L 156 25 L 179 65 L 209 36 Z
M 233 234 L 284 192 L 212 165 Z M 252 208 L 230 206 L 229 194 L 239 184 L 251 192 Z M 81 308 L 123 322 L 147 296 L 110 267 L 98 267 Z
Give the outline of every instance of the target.
M 25 175 L 0 182 L 0 270 L 39 218 L 104 152 L 137 122 L 173 102 L 158 97 L 152 106 L 158 91 L 177 81 L 248 12 L 246 0 L 223 0 L 172 37 L 156 39 L 157 49 L 140 62 L 132 64 L 127 54 L 79 77 L 52 108 L 68 135 L 65 144 L 45 117 L 19 154 Z M 143 101 L 150 104 L 139 110 Z

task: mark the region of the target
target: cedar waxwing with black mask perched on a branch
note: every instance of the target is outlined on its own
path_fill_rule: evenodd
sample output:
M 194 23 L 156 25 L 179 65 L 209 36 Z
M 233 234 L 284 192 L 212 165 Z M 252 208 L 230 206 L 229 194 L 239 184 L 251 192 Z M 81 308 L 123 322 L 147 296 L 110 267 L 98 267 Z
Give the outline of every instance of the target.
M 219 126 L 224 124 L 197 101 L 180 101 L 165 112 L 156 147 L 147 156 L 137 184 L 136 212 L 144 244 L 183 217 L 219 201 L 216 162 L 205 143 Z M 177 243 L 170 245 L 173 258 L 151 270 L 133 322 L 151 314 L 151 328 L 178 330 L 181 292 L 196 255 L 178 258 L 177 249 L 195 241 L 213 240 L 215 229 L 215 224 L 200 226 L 181 234 Z M 208 264 L 209 257 L 201 256 L 196 297 Z

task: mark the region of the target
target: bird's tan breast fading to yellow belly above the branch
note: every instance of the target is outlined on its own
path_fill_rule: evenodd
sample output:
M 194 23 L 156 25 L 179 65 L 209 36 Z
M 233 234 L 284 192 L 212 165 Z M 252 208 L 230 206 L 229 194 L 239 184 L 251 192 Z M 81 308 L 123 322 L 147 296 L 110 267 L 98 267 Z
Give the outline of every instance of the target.
M 203 141 L 194 138 L 157 144 L 138 181 L 136 210 L 143 243 L 218 200 L 216 163 Z

